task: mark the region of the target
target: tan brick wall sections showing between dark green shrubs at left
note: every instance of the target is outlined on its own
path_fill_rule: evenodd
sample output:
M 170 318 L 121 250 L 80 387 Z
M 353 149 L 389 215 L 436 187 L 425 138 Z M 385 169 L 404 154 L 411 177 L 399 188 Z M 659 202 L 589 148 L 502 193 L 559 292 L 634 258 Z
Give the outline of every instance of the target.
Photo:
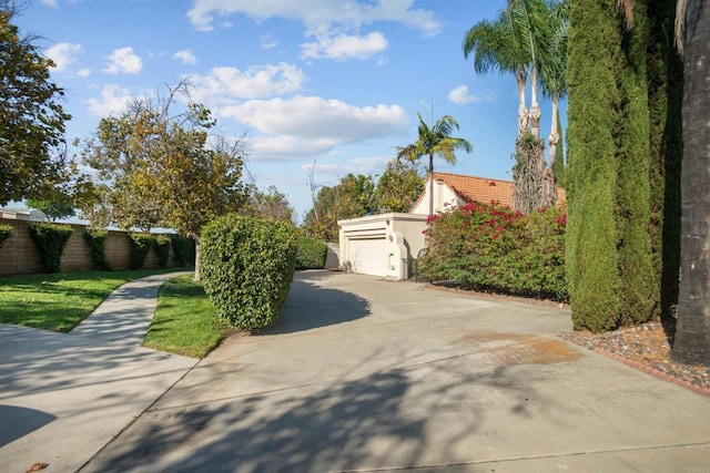
M 31 275 L 47 273 L 40 254 L 30 236 L 29 222 L 0 218 L 0 224 L 14 229 L 10 238 L 0 247 L 0 276 Z M 69 238 L 62 254 L 61 271 L 84 271 L 97 269 L 91 263 L 91 249 L 84 240 L 84 225 L 70 225 L 74 233 Z M 105 256 L 112 269 L 128 269 L 130 261 L 128 232 L 109 230 L 105 243 Z M 169 267 L 176 266 L 171 251 Z M 144 268 L 158 268 L 158 255 L 151 250 L 145 258 Z

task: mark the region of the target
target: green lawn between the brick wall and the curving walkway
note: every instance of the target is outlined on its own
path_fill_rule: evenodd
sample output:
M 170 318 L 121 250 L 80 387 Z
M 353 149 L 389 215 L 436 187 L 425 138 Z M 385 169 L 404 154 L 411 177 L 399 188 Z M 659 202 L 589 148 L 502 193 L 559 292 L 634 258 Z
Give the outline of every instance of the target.
M 0 322 L 68 332 L 119 286 L 178 269 L 82 271 L 0 278 Z

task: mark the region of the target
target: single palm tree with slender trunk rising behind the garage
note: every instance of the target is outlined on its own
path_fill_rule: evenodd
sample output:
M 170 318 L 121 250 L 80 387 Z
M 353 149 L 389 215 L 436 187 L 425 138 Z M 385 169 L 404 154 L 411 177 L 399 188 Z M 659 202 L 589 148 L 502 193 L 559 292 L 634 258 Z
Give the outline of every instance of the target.
M 432 216 L 434 215 L 434 156 L 456 164 L 457 150 L 470 153 L 474 147 L 468 141 L 452 136 L 454 128 L 458 130 L 458 122 L 453 116 L 444 115 L 430 127 L 424 122 L 419 112 L 417 116 L 419 117 L 419 136 L 412 144 L 404 147 L 397 146 L 397 158 L 417 161 L 422 156 L 429 156 L 429 216 Z

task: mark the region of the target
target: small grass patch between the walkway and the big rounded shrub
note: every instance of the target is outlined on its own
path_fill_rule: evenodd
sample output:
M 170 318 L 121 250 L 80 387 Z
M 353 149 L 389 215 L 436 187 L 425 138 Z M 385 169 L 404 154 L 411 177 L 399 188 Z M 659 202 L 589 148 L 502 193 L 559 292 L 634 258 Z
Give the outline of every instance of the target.
M 185 275 L 166 281 L 143 347 L 203 358 L 226 337 L 230 327 L 215 313 L 202 284 Z

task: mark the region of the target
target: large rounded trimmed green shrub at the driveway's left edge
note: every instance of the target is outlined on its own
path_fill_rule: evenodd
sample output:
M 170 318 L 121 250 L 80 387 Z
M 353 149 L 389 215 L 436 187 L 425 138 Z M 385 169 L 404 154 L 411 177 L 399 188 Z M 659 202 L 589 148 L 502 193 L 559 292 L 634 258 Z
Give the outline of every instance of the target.
M 276 320 L 295 268 L 291 224 L 226 215 L 203 228 L 200 249 L 204 289 L 220 317 L 246 330 Z

